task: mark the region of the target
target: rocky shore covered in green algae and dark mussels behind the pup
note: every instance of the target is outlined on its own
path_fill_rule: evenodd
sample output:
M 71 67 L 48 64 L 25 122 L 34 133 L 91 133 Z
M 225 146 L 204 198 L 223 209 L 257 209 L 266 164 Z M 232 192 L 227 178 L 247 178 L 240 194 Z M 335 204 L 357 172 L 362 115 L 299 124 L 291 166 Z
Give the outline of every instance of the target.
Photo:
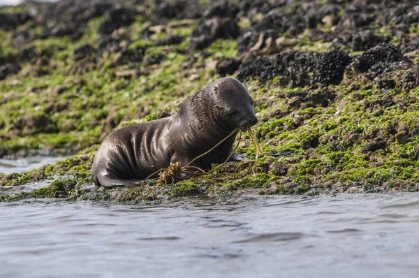
M 414 1 L 79 1 L 0 8 L 0 157 L 74 154 L 0 174 L 54 179 L 0 200 L 159 200 L 240 193 L 419 191 L 419 6 Z M 222 76 L 255 99 L 234 173 L 91 188 L 113 129 L 167 117 Z

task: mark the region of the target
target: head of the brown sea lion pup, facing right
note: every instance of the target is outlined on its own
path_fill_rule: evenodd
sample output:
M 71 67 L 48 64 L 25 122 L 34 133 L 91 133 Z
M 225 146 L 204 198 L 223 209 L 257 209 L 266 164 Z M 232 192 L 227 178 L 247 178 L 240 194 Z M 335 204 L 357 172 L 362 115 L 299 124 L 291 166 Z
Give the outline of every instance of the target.
M 234 78 L 221 78 L 207 87 L 216 111 L 216 122 L 223 129 L 249 129 L 258 122 L 246 87 Z

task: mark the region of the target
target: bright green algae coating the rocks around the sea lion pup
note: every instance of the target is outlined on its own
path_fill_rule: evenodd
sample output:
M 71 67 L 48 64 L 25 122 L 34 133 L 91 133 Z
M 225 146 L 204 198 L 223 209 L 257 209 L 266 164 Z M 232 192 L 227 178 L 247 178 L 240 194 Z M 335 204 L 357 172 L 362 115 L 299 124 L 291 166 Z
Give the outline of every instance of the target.
M 26 8 L 1 10 L 14 13 Z M 293 13 L 295 6 L 282 10 Z M 343 14 L 342 10 L 337 16 Z M 159 64 L 137 62 L 115 66 L 112 61 L 115 53 L 109 52 L 102 57 L 95 54 L 74 61 L 74 50 L 81 45 L 98 47 L 97 30 L 102 20 L 103 17 L 89 20 L 78 41 L 68 36 L 31 41 L 24 48 L 47 58 L 48 64 L 24 61 L 20 73 L 0 81 L 0 150 L 6 149 L 10 155 L 24 155 L 34 149 L 49 149 L 53 154 L 77 153 L 54 166 L 22 174 L 0 174 L 0 186 L 59 177 L 43 189 L 0 195 L 0 200 L 66 198 L 139 202 L 247 191 L 316 194 L 351 191 L 354 187 L 362 191 L 419 190 L 419 89 L 406 90 L 398 83 L 395 89 L 383 89 L 362 75 L 330 86 L 328 89 L 336 95 L 325 107 L 314 98 L 295 106 L 290 104 L 297 93 L 314 94 L 316 90 L 321 93 L 324 88 L 283 87 L 277 85 L 278 78 L 268 80 L 266 85 L 257 85 L 257 80 L 245 84 L 256 100 L 258 118 L 264 119 L 253 128 L 263 152 L 291 149 L 291 156 L 259 157 L 251 166 L 240 168 L 236 175 L 233 170 L 240 163 L 232 163 L 230 170 L 219 170 L 214 175 L 164 186 L 155 186 L 150 181 L 133 189 L 84 189 L 83 185 L 92 182 L 91 163 L 104 136 L 128 124 L 174 114 L 182 99 L 219 78 L 214 68 L 217 61 L 237 58 L 237 41 L 233 39 L 212 42 L 204 50 L 210 53 L 209 57 L 200 51 L 189 53 L 190 38 L 179 45 L 156 46 L 156 41 L 168 34 L 190 36 L 197 24 L 171 28 L 170 33 L 166 30 L 147 39 L 140 32 L 149 22 L 137 16 L 131 26 L 122 27 L 112 36 L 117 38 L 127 32 L 132 41 L 119 43 L 128 45 L 128 50 L 144 51 L 145 59 L 161 59 Z M 249 24 L 246 20 L 239 22 L 242 29 Z M 27 22 L 18 28 L 30 26 L 31 22 Z M 418 26 L 411 24 L 409 33 L 416 34 Z M 330 31 L 324 26 L 321 30 Z M 31 31 L 41 32 L 40 29 Z M 385 27 L 374 31 L 380 36 L 390 35 Z M 17 54 L 14 39 L 8 32 L 0 31 L 0 38 L 1 56 Z M 304 52 L 330 49 L 330 43 L 311 41 L 305 34 L 297 38 L 298 43 L 290 49 Z M 347 50 L 354 57 L 362 54 Z M 89 64 L 93 66 L 89 68 Z M 117 73 L 122 70 L 138 71 L 138 76 L 120 77 Z M 277 114 L 281 116 L 272 116 L 277 111 L 281 111 Z M 249 160 L 256 155 L 246 136 L 238 151 L 249 156 Z

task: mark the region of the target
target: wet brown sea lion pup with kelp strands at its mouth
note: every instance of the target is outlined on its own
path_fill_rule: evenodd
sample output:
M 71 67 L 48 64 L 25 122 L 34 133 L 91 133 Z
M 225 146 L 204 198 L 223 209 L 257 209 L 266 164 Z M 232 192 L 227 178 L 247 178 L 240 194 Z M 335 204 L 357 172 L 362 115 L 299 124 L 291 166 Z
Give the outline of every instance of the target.
M 176 115 L 117 129 L 103 140 L 91 174 L 96 186 L 135 186 L 150 174 L 178 161 L 185 166 L 235 129 L 258 122 L 253 99 L 234 78 L 221 78 L 191 94 Z M 210 169 L 232 152 L 235 136 L 191 166 Z M 233 160 L 240 160 L 235 154 Z

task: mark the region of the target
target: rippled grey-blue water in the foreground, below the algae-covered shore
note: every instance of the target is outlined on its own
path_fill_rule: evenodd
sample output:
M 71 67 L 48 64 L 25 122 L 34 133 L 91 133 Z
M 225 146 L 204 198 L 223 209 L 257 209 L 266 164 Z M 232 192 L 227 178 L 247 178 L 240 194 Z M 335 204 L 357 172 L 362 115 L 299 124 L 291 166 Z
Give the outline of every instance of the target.
M 0 203 L 0 277 L 418 277 L 419 194 Z

